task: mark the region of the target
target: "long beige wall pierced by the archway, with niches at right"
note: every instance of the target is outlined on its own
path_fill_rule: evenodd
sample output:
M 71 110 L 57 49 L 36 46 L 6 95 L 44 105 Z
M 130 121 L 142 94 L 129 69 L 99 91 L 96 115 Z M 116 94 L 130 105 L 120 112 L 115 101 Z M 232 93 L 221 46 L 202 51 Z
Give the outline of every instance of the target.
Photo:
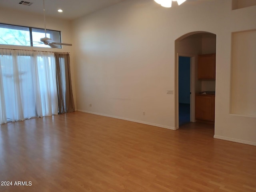
M 256 28 L 256 6 L 231 9 L 231 0 L 128 0 L 75 20 L 78 110 L 175 128 L 166 94 L 175 89 L 174 42 L 206 31 L 217 35 L 215 137 L 256 144 L 256 118 L 229 112 L 231 33 Z

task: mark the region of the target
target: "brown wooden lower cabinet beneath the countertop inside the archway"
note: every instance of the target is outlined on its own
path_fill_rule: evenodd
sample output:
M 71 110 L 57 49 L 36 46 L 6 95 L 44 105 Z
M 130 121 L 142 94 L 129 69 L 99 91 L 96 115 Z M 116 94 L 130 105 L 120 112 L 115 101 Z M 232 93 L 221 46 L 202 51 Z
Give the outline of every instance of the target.
M 196 95 L 196 119 L 213 121 L 215 118 L 215 95 Z

